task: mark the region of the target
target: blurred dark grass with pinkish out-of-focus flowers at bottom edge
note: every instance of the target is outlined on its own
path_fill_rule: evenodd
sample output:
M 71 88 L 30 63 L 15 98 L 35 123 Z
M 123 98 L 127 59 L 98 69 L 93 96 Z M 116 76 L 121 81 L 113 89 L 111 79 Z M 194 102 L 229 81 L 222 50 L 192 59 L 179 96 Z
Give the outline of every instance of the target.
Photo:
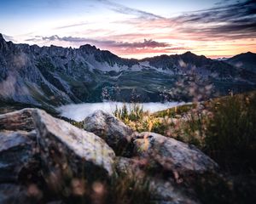
M 95 180 L 90 183 L 86 178 L 66 178 L 55 183 L 55 197 L 64 203 L 84 204 L 149 204 L 148 180 L 138 175 L 120 173 L 111 178 Z M 53 195 L 49 195 L 52 197 Z

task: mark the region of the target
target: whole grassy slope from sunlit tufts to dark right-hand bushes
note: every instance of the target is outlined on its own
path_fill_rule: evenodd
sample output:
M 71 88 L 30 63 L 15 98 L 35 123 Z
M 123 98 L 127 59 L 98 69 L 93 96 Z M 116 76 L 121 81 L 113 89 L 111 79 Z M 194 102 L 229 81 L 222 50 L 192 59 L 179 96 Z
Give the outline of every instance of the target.
M 195 144 L 227 172 L 255 173 L 256 93 L 181 105 L 154 114 L 139 105 L 114 115 L 137 132 L 151 131 Z

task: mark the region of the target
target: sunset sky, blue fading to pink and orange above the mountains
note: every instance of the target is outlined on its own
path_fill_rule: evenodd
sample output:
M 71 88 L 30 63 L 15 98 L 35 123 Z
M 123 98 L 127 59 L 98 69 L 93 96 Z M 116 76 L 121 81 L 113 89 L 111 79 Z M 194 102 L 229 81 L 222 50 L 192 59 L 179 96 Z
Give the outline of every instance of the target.
M 124 58 L 230 57 L 256 53 L 256 0 L 0 0 L 0 33 L 39 46 L 91 44 Z

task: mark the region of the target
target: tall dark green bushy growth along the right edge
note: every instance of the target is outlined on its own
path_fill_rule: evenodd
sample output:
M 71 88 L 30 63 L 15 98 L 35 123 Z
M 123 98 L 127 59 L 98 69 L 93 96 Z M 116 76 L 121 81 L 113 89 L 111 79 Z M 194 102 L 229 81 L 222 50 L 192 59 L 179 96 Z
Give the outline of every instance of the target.
M 256 171 L 256 94 L 216 99 L 210 104 L 205 152 L 230 172 Z

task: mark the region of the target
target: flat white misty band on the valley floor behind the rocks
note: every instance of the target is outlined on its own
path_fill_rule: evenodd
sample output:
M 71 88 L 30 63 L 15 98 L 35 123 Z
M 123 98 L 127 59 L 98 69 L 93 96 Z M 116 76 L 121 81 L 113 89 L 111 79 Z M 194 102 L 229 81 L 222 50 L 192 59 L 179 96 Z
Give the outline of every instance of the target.
M 172 108 L 177 105 L 183 105 L 184 103 L 178 102 L 166 102 L 166 103 L 138 103 L 138 105 L 143 106 L 143 111 L 149 111 L 150 113 L 156 111 L 163 111 L 168 108 Z M 65 116 L 74 121 L 83 121 L 86 116 L 97 110 L 107 111 L 113 113 L 116 106 L 121 108 L 124 103 L 121 102 L 102 102 L 102 103 L 84 103 L 84 104 L 72 104 L 72 105 L 62 105 L 57 110 L 60 111 L 61 116 Z M 132 107 L 132 104 L 125 103 L 128 110 Z

